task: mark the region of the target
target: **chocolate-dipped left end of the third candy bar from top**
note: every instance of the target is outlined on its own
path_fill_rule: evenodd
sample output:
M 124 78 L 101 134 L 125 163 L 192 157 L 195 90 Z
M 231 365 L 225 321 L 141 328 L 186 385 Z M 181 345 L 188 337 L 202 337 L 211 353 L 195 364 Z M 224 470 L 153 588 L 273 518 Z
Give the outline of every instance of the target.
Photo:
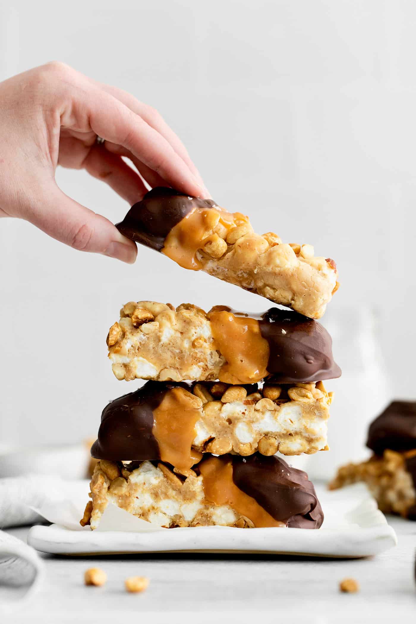
M 148 381 L 135 392 L 111 401 L 101 415 L 98 439 L 91 449 L 96 459 L 160 459 L 157 439 L 153 435 L 153 411 L 172 388 L 187 384 Z

